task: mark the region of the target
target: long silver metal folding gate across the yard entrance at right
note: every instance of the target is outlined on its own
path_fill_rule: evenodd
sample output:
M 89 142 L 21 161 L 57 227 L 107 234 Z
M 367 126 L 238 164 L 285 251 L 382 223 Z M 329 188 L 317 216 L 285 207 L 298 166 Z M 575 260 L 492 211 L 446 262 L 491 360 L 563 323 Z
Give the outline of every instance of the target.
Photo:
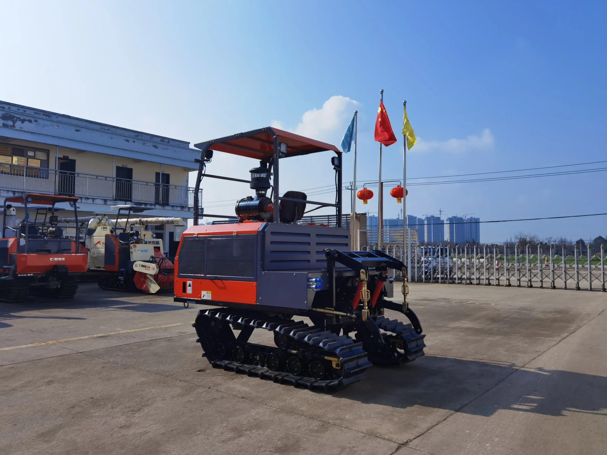
M 588 244 L 412 246 L 409 281 L 605 291 L 605 246 L 594 250 Z M 409 264 L 402 245 L 382 251 Z

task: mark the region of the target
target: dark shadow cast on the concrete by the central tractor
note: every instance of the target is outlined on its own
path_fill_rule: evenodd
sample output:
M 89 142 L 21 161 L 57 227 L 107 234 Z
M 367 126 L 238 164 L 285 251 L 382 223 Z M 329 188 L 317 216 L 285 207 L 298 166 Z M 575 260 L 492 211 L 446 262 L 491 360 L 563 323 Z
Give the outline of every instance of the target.
M 502 380 L 498 393 L 486 394 Z M 394 408 L 419 405 L 485 417 L 500 409 L 607 417 L 607 377 L 449 357 L 425 356 L 394 369 L 374 366 L 364 380 L 335 396 Z

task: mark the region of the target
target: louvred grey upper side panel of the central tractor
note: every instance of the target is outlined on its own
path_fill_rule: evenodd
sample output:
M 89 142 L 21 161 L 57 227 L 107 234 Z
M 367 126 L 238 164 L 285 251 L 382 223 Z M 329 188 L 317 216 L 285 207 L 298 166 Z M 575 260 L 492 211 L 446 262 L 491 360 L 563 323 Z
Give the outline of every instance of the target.
M 326 269 L 324 250 L 350 250 L 350 232 L 343 227 L 266 223 L 260 229 L 262 270 Z

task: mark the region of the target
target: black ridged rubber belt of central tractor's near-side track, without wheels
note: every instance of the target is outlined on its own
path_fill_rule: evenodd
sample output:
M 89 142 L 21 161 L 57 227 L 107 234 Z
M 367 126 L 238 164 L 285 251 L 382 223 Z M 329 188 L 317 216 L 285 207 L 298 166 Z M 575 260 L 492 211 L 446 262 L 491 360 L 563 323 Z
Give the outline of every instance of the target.
M 371 362 L 367 360 L 367 352 L 362 348 L 362 343 L 356 343 L 350 337 L 345 335 L 339 336 L 317 326 L 308 326 L 303 321 L 293 321 L 277 316 L 263 315 L 257 311 L 209 309 L 198 312 L 194 326 L 197 326 L 198 318 L 200 317 L 226 320 L 230 323 L 237 323 L 237 325 L 248 325 L 256 329 L 272 331 L 274 334 L 287 335 L 294 342 L 293 348 L 305 349 L 308 348 L 305 345 L 309 345 L 311 348 L 317 348 L 319 351 L 322 351 L 322 356 L 338 357 L 339 363 L 341 363 L 342 377 L 339 379 L 318 380 L 312 377 L 296 376 L 287 372 L 272 371 L 263 366 L 248 365 L 232 360 L 214 360 L 211 359 L 212 348 L 209 340 L 199 338 L 197 342 L 202 345 L 207 359 L 214 368 L 223 368 L 227 371 L 234 371 L 246 374 L 247 376 L 257 376 L 260 379 L 271 379 L 277 383 L 305 386 L 310 390 L 322 388 L 325 391 L 330 391 L 361 380 L 365 376 L 367 368 L 371 366 Z M 197 333 L 200 337 L 198 330 Z M 276 349 L 283 352 L 288 351 L 288 349 Z

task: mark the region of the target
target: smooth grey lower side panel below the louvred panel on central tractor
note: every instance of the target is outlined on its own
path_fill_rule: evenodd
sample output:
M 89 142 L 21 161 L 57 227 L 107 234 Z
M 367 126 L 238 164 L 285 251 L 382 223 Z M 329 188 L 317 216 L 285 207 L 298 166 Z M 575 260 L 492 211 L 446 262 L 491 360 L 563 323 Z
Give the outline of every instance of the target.
M 308 309 L 308 274 L 306 272 L 260 273 L 257 275 L 257 303 L 265 306 Z

